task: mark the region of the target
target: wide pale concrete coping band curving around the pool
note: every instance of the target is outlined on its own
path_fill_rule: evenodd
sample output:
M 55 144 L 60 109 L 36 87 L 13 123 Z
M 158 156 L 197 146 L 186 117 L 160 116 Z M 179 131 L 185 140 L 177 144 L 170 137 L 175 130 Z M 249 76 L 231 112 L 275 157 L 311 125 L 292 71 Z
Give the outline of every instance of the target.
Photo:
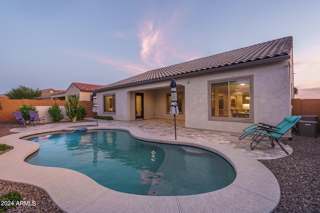
M 83 124 L 82 124 L 83 125 Z M 0 155 L 0 179 L 34 185 L 48 193 L 52 201 L 67 213 L 86 212 L 273 212 L 280 201 L 280 187 L 274 175 L 253 157 L 210 141 L 155 136 L 135 127 L 114 128 L 101 124 L 94 129 L 128 131 L 133 137 L 160 143 L 199 147 L 225 158 L 236 172 L 227 187 L 191 196 L 142 196 L 116 192 L 94 182 L 89 177 L 69 169 L 34 166 L 24 159 L 39 148 L 39 144 L 19 138 L 54 131 L 72 131 L 65 127 L 17 133 L 0 138 L 14 149 Z M 79 125 L 81 126 L 81 125 Z

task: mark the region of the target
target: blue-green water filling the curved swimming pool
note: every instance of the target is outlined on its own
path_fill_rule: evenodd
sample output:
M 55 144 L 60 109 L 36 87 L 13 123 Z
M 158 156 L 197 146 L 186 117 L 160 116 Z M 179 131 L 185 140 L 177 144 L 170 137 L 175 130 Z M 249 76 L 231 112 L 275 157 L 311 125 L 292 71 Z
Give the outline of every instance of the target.
M 40 144 L 27 163 L 72 169 L 124 193 L 195 195 L 219 190 L 235 179 L 230 164 L 214 153 L 141 141 L 121 130 L 46 133 L 23 139 Z

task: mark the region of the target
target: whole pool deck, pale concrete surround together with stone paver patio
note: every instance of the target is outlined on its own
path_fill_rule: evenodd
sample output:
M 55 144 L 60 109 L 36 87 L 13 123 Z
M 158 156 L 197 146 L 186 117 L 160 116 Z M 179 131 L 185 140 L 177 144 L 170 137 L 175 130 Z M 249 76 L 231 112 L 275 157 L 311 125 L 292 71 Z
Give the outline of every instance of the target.
M 110 190 L 73 170 L 34 166 L 24 162 L 24 159 L 35 152 L 39 145 L 19 138 L 49 131 L 70 131 L 72 128 L 69 127 L 95 125 L 95 120 L 13 129 L 12 131 L 19 133 L 0 138 L 0 144 L 5 143 L 14 147 L 13 150 L 0 155 L 0 179 L 37 186 L 46 191 L 60 209 L 68 213 L 265 213 L 272 212 L 280 201 L 277 180 L 264 165 L 253 158 L 255 156 L 257 159 L 272 159 L 286 156 L 277 145 L 272 149 L 268 140 L 251 151 L 249 140 L 244 142 L 238 140 L 240 134 L 184 128 L 183 121 L 177 121 L 177 140 L 174 140 L 172 120 L 150 119 L 132 122 L 99 120 L 98 123 L 98 127 L 92 126 L 87 129 L 121 129 L 142 140 L 191 145 L 215 152 L 233 166 L 236 179 L 229 186 L 214 192 L 192 196 L 153 197 Z M 285 149 L 292 153 L 292 149 L 288 146 L 285 146 Z

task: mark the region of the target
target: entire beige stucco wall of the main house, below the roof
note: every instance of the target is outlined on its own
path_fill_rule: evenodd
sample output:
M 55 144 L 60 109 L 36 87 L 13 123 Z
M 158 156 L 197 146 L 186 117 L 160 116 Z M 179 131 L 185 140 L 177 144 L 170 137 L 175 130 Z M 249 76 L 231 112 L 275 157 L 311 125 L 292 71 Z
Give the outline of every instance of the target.
M 189 77 L 175 77 L 178 88 L 184 91 L 183 114 L 177 119 L 185 119 L 185 127 L 217 131 L 238 132 L 252 123 L 276 125 L 283 117 L 291 114 L 291 71 L 288 60 L 268 64 L 247 66 L 227 71 L 212 72 Z M 217 121 L 208 119 L 209 82 L 230 78 L 251 78 L 250 123 Z M 98 105 L 102 108 L 102 95 L 116 94 L 115 120 L 135 119 L 135 92 L 144 94 L 144 118 L 172 118 L 166 113 L 166 94 L 170 93 L 170 80 L 98 92 Z M 253 107 L 253 108 L 252 108 Z M 103 108 L 102 108 L 103 109 Z M 102 110 L 99 115 L 102 115 Z

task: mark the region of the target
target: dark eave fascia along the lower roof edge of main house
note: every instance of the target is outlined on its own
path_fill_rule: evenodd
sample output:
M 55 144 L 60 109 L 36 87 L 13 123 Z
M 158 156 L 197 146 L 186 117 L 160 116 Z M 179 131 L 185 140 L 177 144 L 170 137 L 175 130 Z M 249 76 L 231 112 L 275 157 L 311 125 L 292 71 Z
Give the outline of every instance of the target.
M 290 58 L 290 55 L 281 55 L 281 56 L 276 56 L 276 57 L 272 57 L 272 58 L 264 58 L 264 59 L 254 60 L 254 61 L 249 61 L 249 62 L 244 62 L 244 63 L 226 65 L 226 66 L 221 66 L 221 67 L 214 67 L 214 68 L 210 68 L 210 69 L 193 71 L 193 72 L 177 74 L 177 75 L 172 75 L 172 76 L 167 76 L 167 77 L 162 77 L 162 78 L 156 78 L 156 79 L 151 79 L 151 80 L 146 80 L 146 81 L 123 84 L 123 85 L 118 85 L 118 86 L 113 86 L 113 87 L 108 87 L 108 88 L 101 88 L 101 89 L 96 89 L 94 91 L 97 91 L 97 92 L 98 91 L 105 91 L 105 90 L 110 90 L 110 89 L 116 89 L 116 88 L 136 86 L 136 85 L 141 85 L 141 84 L 164 81 L 164 80 L 169 80 L 169 79 L 172 79 L 172 78 L 175 78 L 175 79 L 176 78 L 183 78 L 183 77 L 199 75 L 199 74 L 205 74 L 205 73 L 210 73 L 210 72 L 218 72 L 218 71 L 224 71 L 224 70 L 229 70 L 229 69 L 260 65 L 260 64 L 265 64 L 265 63 L 272 63 L 272 62 L 276 62 L 276 61 L 286 60 L 286 59 L 289 59 L 289 58 Z

